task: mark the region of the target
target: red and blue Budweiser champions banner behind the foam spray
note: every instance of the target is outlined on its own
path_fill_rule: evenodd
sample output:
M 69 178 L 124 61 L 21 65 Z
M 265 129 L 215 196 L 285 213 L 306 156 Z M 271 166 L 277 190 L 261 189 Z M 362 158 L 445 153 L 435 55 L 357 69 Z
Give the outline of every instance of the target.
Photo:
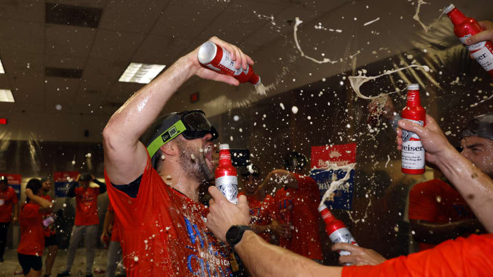
M 333 193 L 325 205 L 329 209 L 350 210 L 353 205 L 354 166 L 357 144 L 312 146 L 310 176 L 317 182 L 320 199 L 333 185 Z

